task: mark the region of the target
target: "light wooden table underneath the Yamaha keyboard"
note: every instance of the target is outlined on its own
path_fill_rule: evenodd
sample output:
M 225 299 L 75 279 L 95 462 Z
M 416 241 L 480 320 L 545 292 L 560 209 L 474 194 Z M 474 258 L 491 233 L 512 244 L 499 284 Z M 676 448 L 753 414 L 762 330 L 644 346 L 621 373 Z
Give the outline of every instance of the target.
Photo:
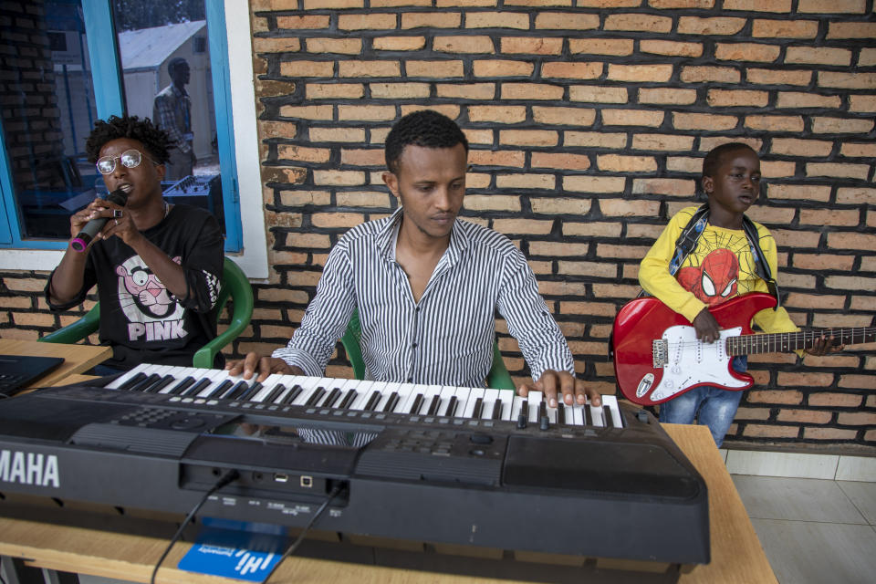
M 704 426 L 664 426 L 684 454 L 703 475 L 709 489 L 712 562 L 683 574 L 683 584 L 777 582 L 767 557 L 748 520 L 745 506 L 712 436 Z M 26 558 L 38 568 L 92 574 L 105 578 L 148 582 L 167 541 L 158 538 L 110 534 L 78 527 L 0 517 L 0 555 Z M 175 568 L 191 544 L 177 543 L 159 570 L 157 581 L 178 584 L 216 584 L 239 580 L 193 574 Z M 546 568 L 549 569 L 549 568 Z M 370 584 L 434 582 L 437 584 L 508 584 L 506 579 L 471 578 L 418 572 L 401 568 L 363 566 L 313 558 L 287 558 L 270 584 Z

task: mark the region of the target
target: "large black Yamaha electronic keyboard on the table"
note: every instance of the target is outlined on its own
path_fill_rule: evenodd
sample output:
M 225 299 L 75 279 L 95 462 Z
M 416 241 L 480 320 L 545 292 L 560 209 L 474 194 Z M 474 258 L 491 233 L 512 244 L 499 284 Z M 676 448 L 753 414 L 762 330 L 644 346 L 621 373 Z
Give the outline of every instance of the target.
M 651 414 L 485 388 L 142 365 L 0 402 L 0 515 L 200 516 L 428 545 L 709 561 L 704 481 Z M 16 507 L 17 508 L 17 507 Z M 29 507 L 28 507 L 29 508 Z

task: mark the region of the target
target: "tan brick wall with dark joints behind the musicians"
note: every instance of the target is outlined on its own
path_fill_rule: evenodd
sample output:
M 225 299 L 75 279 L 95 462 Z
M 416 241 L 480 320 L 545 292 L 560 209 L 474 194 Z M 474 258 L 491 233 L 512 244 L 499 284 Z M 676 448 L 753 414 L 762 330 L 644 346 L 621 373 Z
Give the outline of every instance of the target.
M 252 331 L 236 351 L 284 343 L 339 235 L 391 213 L 383 141 L 393 120 L 427 107 L 471 141 L 464 217 L 527 254 L 579 374 L 600 391 L 614 391 L 607 339 L 639 290 L 641 256 L 694 202 L 704 153 L 725 141 L 761 154 L 766 201 L 751 215 L 777 238 L 792 318 L 874 324 L 872 0 L 251 0 L 251 10 L 271 277 L 255 285 Z M 17 320 L 13 305 L 40 275 L 0 276 L 0 327 L 36 337 L 57 324 Z M 523 379 L 516 342 L 497 328 Z M 874 348 L 802 366 L 752 358 L 756 389 L 727 443 L 876 453 Z M 342 352 L 328 372 L 349 372 Z

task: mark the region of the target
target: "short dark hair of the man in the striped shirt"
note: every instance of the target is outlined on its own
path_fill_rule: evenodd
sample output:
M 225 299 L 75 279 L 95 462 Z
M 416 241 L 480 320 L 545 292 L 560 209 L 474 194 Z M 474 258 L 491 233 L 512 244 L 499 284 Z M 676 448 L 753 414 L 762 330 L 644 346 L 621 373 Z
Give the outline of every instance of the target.
M 386 166 L 398 172 L 399 158 L 408 144 L 425 148 L 453 148 L 462 144 L 468 152 L 468 140 L 454 120 L 433 110 L 419 110 L 395 122 L 386 137 Z

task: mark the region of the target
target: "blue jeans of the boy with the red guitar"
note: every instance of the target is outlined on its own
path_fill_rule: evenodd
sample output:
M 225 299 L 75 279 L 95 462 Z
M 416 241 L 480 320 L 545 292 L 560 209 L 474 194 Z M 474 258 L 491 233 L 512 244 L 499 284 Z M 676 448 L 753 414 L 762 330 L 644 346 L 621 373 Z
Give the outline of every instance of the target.
M 740 373 L 748 369 L 748 358 L 735 357 L 733 369 Z M 709 427 L 714 443 L 721 447 L 724 436 L 742 400 L 742 391 L 723 390 L 711 385 L 694 388 L 660 404 L 660 421 L 668 423 L 694 423 Z

